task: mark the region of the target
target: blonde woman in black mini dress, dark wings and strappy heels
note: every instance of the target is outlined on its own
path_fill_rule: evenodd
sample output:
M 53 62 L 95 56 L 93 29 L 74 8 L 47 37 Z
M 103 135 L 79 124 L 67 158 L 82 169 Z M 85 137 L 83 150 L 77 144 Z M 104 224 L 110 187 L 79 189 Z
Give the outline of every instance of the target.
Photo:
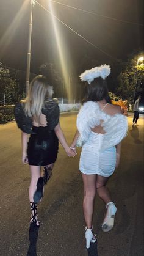
M 59 141 L 68 156 L 75 156 L 68 147 L 60 128 L 58 101 L 52 98 L 53 87 L 48 78 L 36 76 L 25 100 L 15 106 L 15 120 L 21 129 L 22 162 L 29 163 L 31 183 L 29 200 L 31 205 L 31 224 L 39 225 L 37 203 L 43 196 L 43 186 L 51 177 L 57 159 Z M 28 134 L 30 134 L 28 139 Z M 28 142 L 27 142 L 28 141 Z M 40 177 L 41 166 L 44 175 Z

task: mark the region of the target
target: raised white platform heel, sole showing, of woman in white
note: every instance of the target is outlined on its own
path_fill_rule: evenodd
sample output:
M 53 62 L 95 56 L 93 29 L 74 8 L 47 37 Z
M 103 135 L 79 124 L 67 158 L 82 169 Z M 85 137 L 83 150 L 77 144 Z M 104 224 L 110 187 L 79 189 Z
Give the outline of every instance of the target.
M 106 208 L 108 211 L 108 216 L 107 216 L 107 220 L 104 221 L 102 224 L 103 232 L 109 232 L 113 228 L 114 221 L 115 221 L 115 213 L 117 212 L 117 207 L 113 202 L 107 203 Z

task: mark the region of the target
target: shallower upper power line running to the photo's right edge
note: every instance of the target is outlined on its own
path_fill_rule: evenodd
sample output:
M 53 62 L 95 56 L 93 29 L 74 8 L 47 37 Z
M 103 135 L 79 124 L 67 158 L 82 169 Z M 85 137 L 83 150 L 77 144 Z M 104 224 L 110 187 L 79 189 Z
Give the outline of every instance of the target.
M 133 25 L 137 25 L 137 26 L 144 26 L 144 24 L 135 23 L 135 22 L 132 22 L 132 21 L 120 20 L 120 19 L 117 19 L 117 18 L 112 18 L 112 17 L 110 17 L 110 16 L 101 15 L 101 14 L 98 14 L 98 13 L 95 13 L 95 12 L 90 12 L 90 11 L 88 11 L 88 10 L 76 8 L 76 7 L 71 6 L 71 5 L 62 4 L 62 2 L 57 2 L 57 1 L 53 1 L 53 0 L 51 0 L 51 2 L 55 2 L 56 4 L 64 5 L 64 6 L 66 6 L 66 7 L 71 8 L 71 9 L 81 10 L 82 12 L 90 13 L 90 14 L 92 14 L 92 15 L 101 16 L 101 17 L 107 18 L 107 19 L 109 19 L 109 20 L 121 21 L 121 22 L 123 22 L 123 23 L 133 24 Z

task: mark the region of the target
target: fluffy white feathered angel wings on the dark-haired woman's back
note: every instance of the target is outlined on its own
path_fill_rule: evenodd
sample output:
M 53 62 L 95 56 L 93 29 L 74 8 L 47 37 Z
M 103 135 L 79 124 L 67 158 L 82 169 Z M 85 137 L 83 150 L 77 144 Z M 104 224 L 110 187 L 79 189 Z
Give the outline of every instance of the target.
M 128 121 L 122 114 L 108 115 L 101 111 L 98 103 L 87 101 L 77 115 L 77 129 L 84 142 L 88 140 L 91 129 L 99 125 L 101 120 L 103 120 L 101 126 L 106 132 L 103 136 L 101 150 L 105 150 L 117 145 L 126 136 Z

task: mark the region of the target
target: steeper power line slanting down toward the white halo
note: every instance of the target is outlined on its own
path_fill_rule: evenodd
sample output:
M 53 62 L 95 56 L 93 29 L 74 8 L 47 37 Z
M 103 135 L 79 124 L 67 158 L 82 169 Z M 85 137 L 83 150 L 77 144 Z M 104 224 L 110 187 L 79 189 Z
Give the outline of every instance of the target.
M 103 51 L 103 49 L 98 48 L 98 46 L 94 45 L 93 43 L 91 43 L 87 38 L 83 37 L 82 35 L 80 35 L 78 32 L 74 31 L 74 29 L 72 29 L 70 26 L 68 26 L 66 23 L 64 23 L 62 20 L 60 20 L 59 18 L 57 18 L 57 16 L 55 16 L 52 12 L 50 12 L 48 9 L 46 9 L 43 5 L 41 5 L 39 2 L 37 2 L 36 0 L 34 0 L 36 2 L 36 4 L 40 5 L 41 8 L 43 8 L 44 10 L 46 10 L 46 12 L 50 13 L 52 16 L 54 16 L 54 18 L 56 18 L 56 20 L 59 20 L 60 23 L 62 23 L 63 25 L 65 25 L 66 27 L 68 27 L 68 29 L 70 29 L 71 31 L 73 31 L 76 35 L 79 35 L 79 37 L 81 37 L 82 39 L 85 40 L 85 42 L 90 43 L 90 45 L 92 45 L 93 47 L 95 47 L 96 49 L 98 49 L 99 51 L 101 51 L 101 53 L 106 54 L 107 56 L 109 56 L 110 58 L 114 59 L 115 58 L 110 55 L 109 53 L 106 53 L 106 51 Z

